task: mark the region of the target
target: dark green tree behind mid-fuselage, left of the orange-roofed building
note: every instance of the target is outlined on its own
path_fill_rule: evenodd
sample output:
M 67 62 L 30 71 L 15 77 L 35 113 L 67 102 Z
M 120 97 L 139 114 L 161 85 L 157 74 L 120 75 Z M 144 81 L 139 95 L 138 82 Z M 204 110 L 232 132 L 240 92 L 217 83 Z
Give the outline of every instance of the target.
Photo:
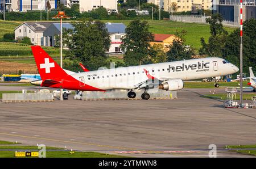
M 139 19 L 133 20 L 127 26 L 126 36 L 122 37 L 121 49 L 125 52 L 124 61 L 127 66 L 141 65 L 147 60 L 150 48 L 150 41 L 154 36 L 148 30 L 149 24 Z

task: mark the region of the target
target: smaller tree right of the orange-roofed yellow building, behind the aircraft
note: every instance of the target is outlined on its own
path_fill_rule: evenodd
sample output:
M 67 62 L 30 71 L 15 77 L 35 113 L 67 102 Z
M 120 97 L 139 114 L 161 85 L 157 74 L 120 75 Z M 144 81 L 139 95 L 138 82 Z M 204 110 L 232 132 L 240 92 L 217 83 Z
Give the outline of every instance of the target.
M 184 29 L 181 32 L 176 32 L 176 38 L 172 41 L 172 45 L 169 47 L 170 50 L 167 52 L 168 61 L 188 60 L 195 55 L 195 49 L 185 45 L 184 36 L 186 33 Z

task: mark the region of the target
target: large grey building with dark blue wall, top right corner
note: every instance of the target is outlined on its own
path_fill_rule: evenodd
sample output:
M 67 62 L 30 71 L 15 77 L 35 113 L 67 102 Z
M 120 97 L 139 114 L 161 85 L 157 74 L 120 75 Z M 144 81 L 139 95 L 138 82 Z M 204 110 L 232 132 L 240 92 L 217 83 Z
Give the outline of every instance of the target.
M 239 0 L 214 0 L 213 10 L 221 14 L 224 20 L 240 22 L 240 1 Z M 256 1 L 243 1 L 243 20 L 256 19 Z

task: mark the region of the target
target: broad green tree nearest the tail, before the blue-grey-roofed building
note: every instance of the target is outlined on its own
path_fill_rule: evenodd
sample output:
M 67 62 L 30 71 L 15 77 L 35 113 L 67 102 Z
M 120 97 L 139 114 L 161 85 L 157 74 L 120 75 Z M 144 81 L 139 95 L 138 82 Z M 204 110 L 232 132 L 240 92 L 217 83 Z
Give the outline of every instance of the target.
M 106 40 L 109 35 L 103 25 L 105 26 L 100 22 L 93 23 L 92 20 L 73 22 L 72 33 L 67 42 L 69 50 L 66 55 L 72 60 L 82 62 L 90 70 L 97 70 L 98 67 L 105 66 L 105 51 L 109 47 L 110 41 Z

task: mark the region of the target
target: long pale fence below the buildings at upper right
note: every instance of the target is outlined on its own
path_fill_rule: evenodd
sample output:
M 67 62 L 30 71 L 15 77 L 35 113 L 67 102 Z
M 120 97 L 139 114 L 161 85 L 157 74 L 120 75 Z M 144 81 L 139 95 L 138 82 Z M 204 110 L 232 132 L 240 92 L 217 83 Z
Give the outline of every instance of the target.
M 199 16 L 199 15 L 170 15 L 170 20 L 176 22 L 185 22 L 185 23 L 206 23 L 205 19 L 210 18 L 210 16 Z M 229 20 L 224 20 L 222 24 L 226 27 L 240 27 L 240 23 L 232 22 Z

